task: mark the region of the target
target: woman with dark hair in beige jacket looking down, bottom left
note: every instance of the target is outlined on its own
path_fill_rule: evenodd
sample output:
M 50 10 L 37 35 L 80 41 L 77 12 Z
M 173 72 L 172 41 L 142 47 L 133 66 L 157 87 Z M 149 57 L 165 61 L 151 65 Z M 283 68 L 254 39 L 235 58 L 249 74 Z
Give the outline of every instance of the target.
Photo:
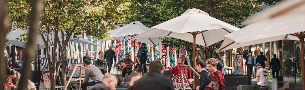
M 7 78 L 7 81 L 6 81 L 6 83 L 10 83 L 10 85 L 7 85 L 7 87 L 9 88 L 8 90 L 17 90 L 18 89 L 17 82 L 19 82 L 20 76 L 21 76 L 21 74 L 19 72 L 15 71 L 14 69 L 9 70 L 9 77 Z

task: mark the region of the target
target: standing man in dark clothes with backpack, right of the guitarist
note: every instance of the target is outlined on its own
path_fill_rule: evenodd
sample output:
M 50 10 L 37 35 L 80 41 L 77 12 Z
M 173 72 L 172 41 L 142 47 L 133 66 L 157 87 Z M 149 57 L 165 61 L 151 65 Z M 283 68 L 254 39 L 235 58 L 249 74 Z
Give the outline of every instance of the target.
M 139 48 L 138 54 L 137 54 L 137 57 L 140 58 L 141 72 L 143 72 L 142 65 L 146 63 L 147 52 L 148 52 L 147 51 L 147 46 L 145 46 L 145 43 L 142 43 L 142 46 Z M 143 73 L 146 73 L 146 71 L 147 71 L 146 66 L 144 66 L 143 68 L 144 68 Z

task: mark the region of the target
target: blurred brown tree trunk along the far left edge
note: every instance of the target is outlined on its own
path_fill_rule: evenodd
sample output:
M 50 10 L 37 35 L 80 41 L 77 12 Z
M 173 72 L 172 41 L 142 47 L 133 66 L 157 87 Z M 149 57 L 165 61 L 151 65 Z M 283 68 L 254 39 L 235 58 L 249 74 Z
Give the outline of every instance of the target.
M 8 18 L 8 6 L 7 0 L 0 1 L 0 55 L 4 55 L 4 43 L 5 43 L 5 35 L 9 31 L 9 18 Z M 0 58 L 0 62 L 5 62 L 4 58 Z M 5 73 L 4 65 L 1 63 L 3 67 L 0 67 L 0 72 Z M 0 81 L 3 82 L 6 78 L 4 74 L 0 74 Z M 1 83 L 2 84 L 2 83 Z M 0 85 L 0 90 L 4 90 L 4 86 Z

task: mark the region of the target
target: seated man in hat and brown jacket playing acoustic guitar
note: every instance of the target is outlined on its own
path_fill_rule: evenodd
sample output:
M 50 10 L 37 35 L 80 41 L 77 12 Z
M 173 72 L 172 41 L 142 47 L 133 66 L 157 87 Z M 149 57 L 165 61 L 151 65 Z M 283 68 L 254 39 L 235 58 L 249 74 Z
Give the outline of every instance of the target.
M 129 58 L 129 54 L 128 54 L 128 53 L 125 54 L 125 58 L 123 58 L 122 60 L 120 60 L 120 61 L 118 62 L 118 64 L 120 64 L 121 62 L 124 62 L 124 63 L 125 63 L 125 65 L 124 65 L 124 66 L 125 66 L 125 69 L 122 70 L 123 83 L 125 83 L 125 82 L 126 82 L 125 74 L 127 73 L 128 75 L 130 75 L 131 72 L 132 72 L 132 61 L 131 61 L 131 59 Z M 127 65 L 127 64 L 129 64 L 129 65 Z M 122 66 L 122 67 L 123 67 L 123 66 Z

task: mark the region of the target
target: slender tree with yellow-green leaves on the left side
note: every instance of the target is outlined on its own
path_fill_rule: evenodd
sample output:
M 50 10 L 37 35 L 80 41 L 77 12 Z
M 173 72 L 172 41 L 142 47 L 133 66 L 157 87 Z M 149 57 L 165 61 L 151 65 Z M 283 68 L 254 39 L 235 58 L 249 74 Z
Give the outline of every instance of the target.
M 62 83 L 66 84 L 66 59 L 65 50 L 69 38 L 81 36 L 84 31 L 91 31 L 89 34 L 94 38 L 102 39 L 107 37 L 106 31 L 120 24 L 125 17 L 130 16 L 130 9 L 134 2 L 130 0 L 44 0 L 39 22 L 42 37 L 48 58 L 50 71 L 51 90 L 55 90 L 55 81 L 58 77 L 60 64 L 62 64 Z M 29 20 L 27 11 L 29 3 L 27 0 L 9 0 L 9 14 L 11 20 L 18 22 L 20 26 L 26 25 Z M 21 8 L 21 9 L 20 9 Z M 27 34 L 24 35 L 24 38 Z M 51 39 L 52 38 L 52 39 Z M 22 40 L 22 39 L 20 39 Z M 54 50 L 52 60 L 49 46 Z M 59 62 L 56 65 L 57 47 L 59 47 Z M 51 61 L 53 64 L 51 64 Z

